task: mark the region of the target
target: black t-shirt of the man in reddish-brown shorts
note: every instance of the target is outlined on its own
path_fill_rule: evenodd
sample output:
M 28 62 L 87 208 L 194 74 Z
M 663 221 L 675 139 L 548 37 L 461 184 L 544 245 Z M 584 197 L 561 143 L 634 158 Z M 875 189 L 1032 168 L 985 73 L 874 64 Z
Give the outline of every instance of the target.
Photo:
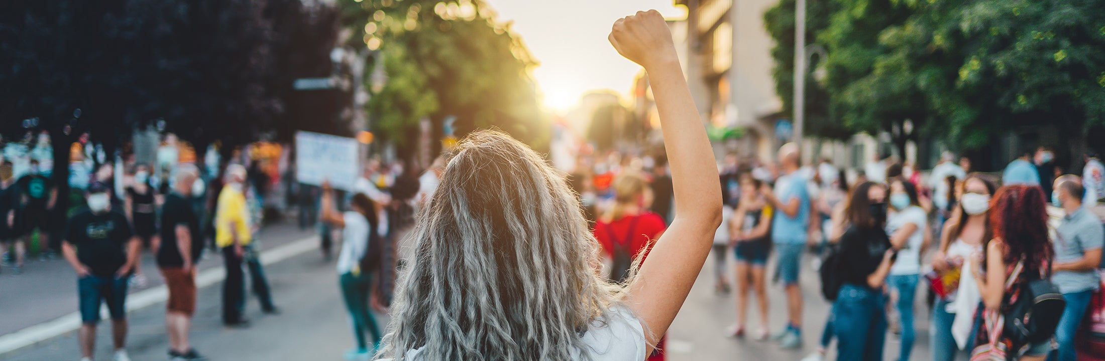
M 165 204 L 161 205 L 161 248 L 157 252 L 157 264 L 161 267 L 183 266 L 185 259 L 180 256 L 180 247 L 177 245 L 177 226 L 188 226 L 188 233 L 192 236 L 192 264 L 199 262 L 200 252 L 203 249 L 203 241 L 200 238 L 200 221 L 192 212 L 191 202 L 177 193 L 169 193 L 165 197 Z

